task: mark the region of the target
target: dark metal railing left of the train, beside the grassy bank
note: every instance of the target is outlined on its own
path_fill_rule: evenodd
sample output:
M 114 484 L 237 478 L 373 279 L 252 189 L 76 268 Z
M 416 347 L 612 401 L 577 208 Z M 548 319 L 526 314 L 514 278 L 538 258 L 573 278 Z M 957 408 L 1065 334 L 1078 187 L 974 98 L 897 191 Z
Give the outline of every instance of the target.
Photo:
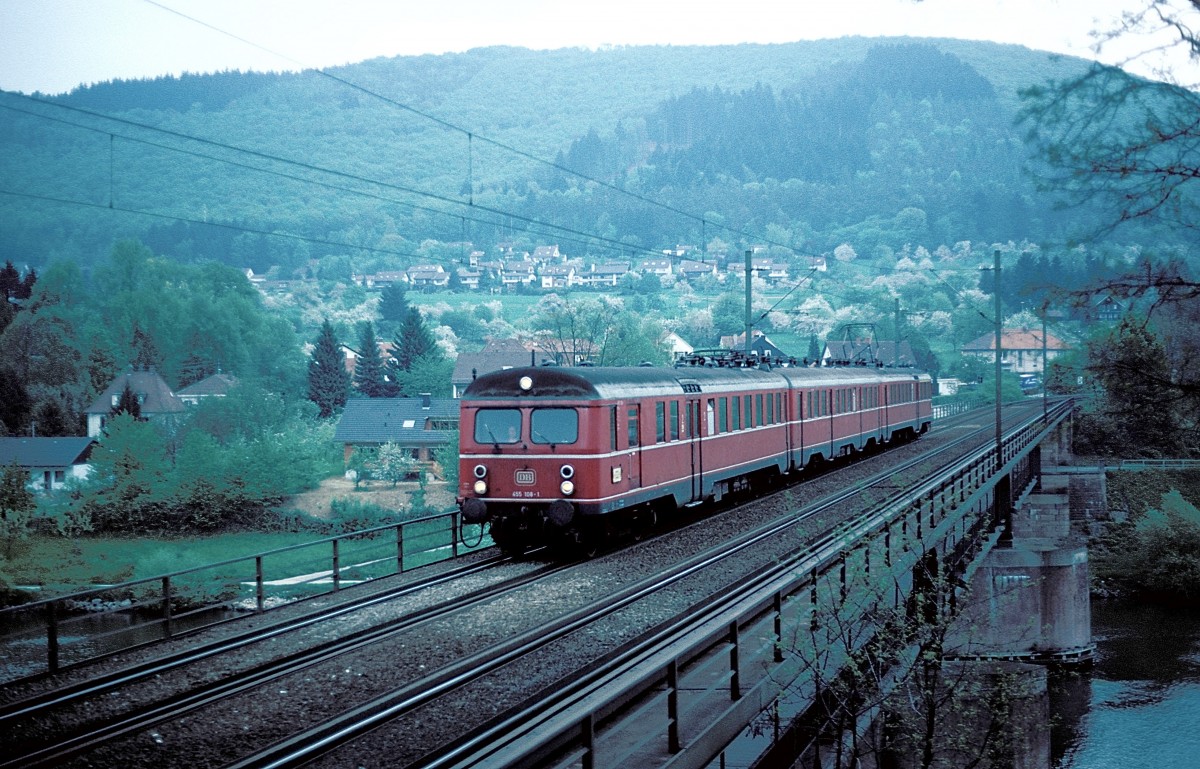
M 457 558 L 491 545 L 480 534 L 460 539 L 454 510 L 6 607 L 0 609 L 0 681 L 53 673 Z

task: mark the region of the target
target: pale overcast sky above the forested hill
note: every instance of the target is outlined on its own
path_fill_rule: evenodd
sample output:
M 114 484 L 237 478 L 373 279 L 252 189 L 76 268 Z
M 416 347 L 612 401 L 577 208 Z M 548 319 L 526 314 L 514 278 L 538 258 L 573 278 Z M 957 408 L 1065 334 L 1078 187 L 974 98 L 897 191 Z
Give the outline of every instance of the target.
M 1138 5 L 1139 0 L 0 0 L 0 89 L 58 94 L 114 78 L 326 67 L 498 44 L 547 49 L 910 35 L 992 40 L 1094 58 L 1088 34 Z

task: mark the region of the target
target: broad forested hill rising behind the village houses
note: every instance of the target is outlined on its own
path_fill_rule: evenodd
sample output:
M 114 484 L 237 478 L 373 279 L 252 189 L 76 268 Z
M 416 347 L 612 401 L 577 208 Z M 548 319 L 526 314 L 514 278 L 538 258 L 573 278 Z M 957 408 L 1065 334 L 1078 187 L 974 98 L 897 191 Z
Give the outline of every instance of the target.
M 722 226 L 806 253 L 1066 238 L 1072 222 L 1022 173 L 1014 118 L 1019 89 L 1081 66 L 992 43 L 845 38 L 486 48 L 332 77 L 5 94 L 0 259 L 86 265 L 137 236 L 286 277 L 330 256 L 355 271 L 450 259 L 437 244 L 462 240 L 596 257 L 617 241 L 629 254 L 736 241 Z

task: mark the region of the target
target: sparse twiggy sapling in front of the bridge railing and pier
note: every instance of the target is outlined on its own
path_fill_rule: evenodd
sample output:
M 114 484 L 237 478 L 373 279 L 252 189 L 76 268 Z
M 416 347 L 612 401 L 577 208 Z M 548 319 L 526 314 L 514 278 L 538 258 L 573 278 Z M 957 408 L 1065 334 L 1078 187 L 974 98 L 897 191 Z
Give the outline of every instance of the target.
M 896 552 L 907 559 L 920 551 Z M 953 591 L 961 606 L 967 596 L 936 553 L 913 560 L 912 590 L 898 601 L 898 583 L 864 569 L 860 552 L 848 553 L 840 567 L 814 578 L 808 621 L 800 615 L 784 636 L 802 691 L 816 693 L 805 717 L 823 738 L 818 765 L 1002 765 L 988 759 L 1038 728 L 1010 717 L 1014 702 L 1039 691 L 1036 681 L 946 661 L 973 651 L 971 632 L 948 600 Z

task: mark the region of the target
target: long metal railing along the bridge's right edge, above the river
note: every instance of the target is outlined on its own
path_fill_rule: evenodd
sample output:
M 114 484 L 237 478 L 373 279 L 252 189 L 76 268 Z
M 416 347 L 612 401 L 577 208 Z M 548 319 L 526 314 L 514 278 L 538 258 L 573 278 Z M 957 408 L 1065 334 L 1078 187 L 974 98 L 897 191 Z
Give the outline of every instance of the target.
M 1069 403 L 1056 404 L 1051 423 L 1069 409 Z M 727 596 L 728 603 L 715 606 L 712 614 L 688 612 L 678 630 L 661 630 L 664 636 L 679 633 L 671 642 L 655 637 L 646 642 L 644 657 L 631 653 L 613 660 L 613 669 L 594 672 L 602 693 L 581 679 L 575 684 L 578 690 L 560 692 L 562 705 L 552 705 L 562 708 L 554 717 L 514 715 L 496 728 L 510 741 L 498 746 L 481 739 L 486 747 L 480 752 L 503 758 L 505 765 L 654 765 L 664 763 L 664 756 L 652 761 L 649 753 L 674 756 L 697 747 L 702 755 L 715 755 L 773 702 L 779 707 L 775 698 L 785 690 L 803 707 L 815 691 L 817 668 L 824 675 L 836 672 L 871 635 L 868 614 L 845 614 L 838 625 L 822 621 L 830 607 L 847 605 L 847 569 L 870 575 L 882 564 L 887 584 L 895 588 L 889 587 L 882 600 L 904 606 L 926 547 L 941 543 L 948 558 L 964 563 L 977 557 L 997 536 L 996 477 L 1019 469 L 1049 428 L 1031 420 L 1007 433 L 1003 456 L 997 458 L 990 446 L 982 449 L 947 468 L 944 480 L 914 483 L 818 537 L 793 560 L 779 564 L 778 572 L 760 575 L 756 587 Z M 954 596 L 948 601 L 953 605 Z M 860 607 L 869 603 L 864 600 Z M 695 627 L 689 626 L 692 621 Z M 853 639 L 840 638 L 811 660 L 788 648 L 797 632 L 832 637 L 846 627 L 856 630 Z M 618 673 L 622 665 L 628 677 Z M 438 765 L 468 765 L 464 756 L 474 746 L 466 746 L 456 763 Z

